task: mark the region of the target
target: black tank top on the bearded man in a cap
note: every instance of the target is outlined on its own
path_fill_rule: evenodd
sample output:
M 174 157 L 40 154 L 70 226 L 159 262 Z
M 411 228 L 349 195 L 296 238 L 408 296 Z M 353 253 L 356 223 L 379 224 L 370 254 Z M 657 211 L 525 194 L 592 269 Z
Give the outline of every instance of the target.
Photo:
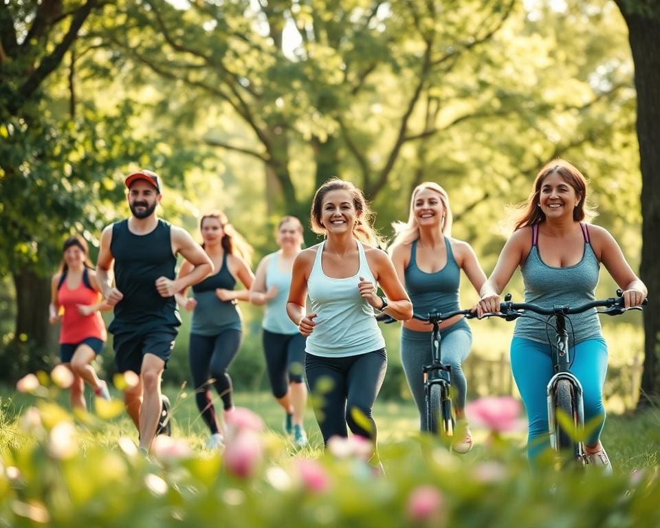
M 115 258 L 115 283 L 124 298 L 115 305 L 111 326 L 144 322 L 164 322 L 180 325 L 175 298 L 162 297 L 156 289 L 156 279 L 174 279 L 177 258 L 172 254 L 170 224 L 158 220 L 156 228 L 137 235 L 129 230 L 129 221 L 112 226 L 110 252 Z M 154 321 L 154 319 L 156 321 Z

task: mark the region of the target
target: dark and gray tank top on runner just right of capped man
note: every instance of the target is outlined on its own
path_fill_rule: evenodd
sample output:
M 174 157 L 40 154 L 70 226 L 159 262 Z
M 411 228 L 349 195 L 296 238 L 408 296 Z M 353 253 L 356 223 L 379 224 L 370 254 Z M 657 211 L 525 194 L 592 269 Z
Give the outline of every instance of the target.
M 197 306 L 192 311 L 190 333 L 197 336 L 217 336 L 225 330 L 241 330 L 241 312 L 231 300 L 220 300 L 216 288 L 234 289 L 236 279 L 227 267 L 227 252 L 222 256 L 219 272 L 206 277 L 201 283 L 192 286 L 192 296 Z

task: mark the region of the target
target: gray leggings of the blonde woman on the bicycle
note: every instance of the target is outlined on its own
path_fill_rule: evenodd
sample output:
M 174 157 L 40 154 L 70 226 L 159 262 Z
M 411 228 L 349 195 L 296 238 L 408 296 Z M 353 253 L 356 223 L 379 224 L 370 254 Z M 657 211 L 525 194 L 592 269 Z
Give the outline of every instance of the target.
M 454 402 L 459 409 L 465 408 L 467 381 L 461 363 L 467 358 L 472 345 L 472 331 L 465 320 L 440 331 L 442 362 L 452 369 L 452 388 L 456 391 Z M 421 369 L 431 364 L 431 333 L 401 329 L 401 364 L 406 380 L 419 410 L 419 426 L 426 430 L 426 404 L 424 402 L 424 380 Z

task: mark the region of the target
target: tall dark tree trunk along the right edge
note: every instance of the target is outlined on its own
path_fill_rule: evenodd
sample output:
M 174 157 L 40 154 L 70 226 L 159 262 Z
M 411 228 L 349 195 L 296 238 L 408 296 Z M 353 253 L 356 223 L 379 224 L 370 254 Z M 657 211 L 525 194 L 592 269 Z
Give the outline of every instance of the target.
M 637 138 L 641 166 L 641 279 L 648 287 L 644 309 L 644 370 L 640 406 L 660 397 L 660 13 L 643 13 L 631 1 L 617 1 L 630 33 L 637 89 Z

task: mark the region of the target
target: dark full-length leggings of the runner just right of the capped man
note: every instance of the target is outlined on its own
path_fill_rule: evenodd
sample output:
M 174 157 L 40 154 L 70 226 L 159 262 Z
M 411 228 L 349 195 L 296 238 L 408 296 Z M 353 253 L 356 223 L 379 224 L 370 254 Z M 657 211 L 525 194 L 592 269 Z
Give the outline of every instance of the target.
M 211 433 L 219 431 L 209 391 L 210 380 L 214 380 L 215 390 L 222 398 L 224 408 L 232 408 L 232 378 L 227 373 L 227 367 L 241 347 L 241 338 L 243 332 L 236 329 L 224 330 L 217 336 L 190 334 L 188 353 L 195 400 Z

